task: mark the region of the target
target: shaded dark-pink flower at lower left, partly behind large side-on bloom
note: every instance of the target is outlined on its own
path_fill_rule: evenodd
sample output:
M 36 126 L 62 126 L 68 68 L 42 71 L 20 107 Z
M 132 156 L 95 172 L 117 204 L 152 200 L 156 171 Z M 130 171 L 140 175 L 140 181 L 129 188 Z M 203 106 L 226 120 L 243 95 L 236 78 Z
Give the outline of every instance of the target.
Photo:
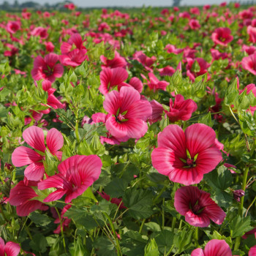
M 37 187 L 37 182 L 29 181 L 25 184 L 24 181 L 20 181 L 10 191 L 9 203 L 12 206 L 16 206 L 18 216 L 28 216 L 32 211 L 37 209 L 46 210 L 48 208 L 47 206 L 45 208 L 38 200 L 31 200 L 34 197 L 38 197 L 32 187 Z

